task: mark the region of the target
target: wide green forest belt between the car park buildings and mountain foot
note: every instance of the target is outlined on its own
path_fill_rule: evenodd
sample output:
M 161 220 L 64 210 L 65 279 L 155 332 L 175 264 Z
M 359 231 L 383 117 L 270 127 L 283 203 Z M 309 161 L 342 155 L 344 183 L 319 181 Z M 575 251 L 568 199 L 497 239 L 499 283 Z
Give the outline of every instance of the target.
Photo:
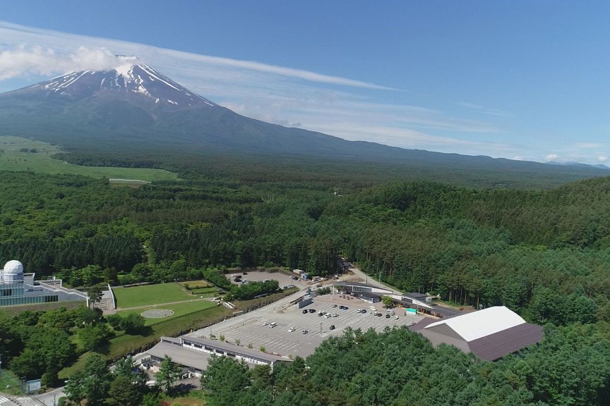
M 342 196 L 325 180 L 130 189 L 4 172 L 0 181 L 0 258 L 74 286 L 223 266 L 330 274 L 342 254 L 401 290 L 458 305 L 506 305 L 539 323 L 609 318 L 609 178 L 546 191 L 388 183 Z

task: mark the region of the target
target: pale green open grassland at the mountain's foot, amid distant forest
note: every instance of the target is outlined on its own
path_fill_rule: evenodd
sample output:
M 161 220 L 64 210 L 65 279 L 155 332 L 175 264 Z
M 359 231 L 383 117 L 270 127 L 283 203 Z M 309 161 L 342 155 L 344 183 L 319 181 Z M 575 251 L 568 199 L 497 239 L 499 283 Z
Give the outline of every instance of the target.
M 176 173 L 162 169 L 115 168 L 112 166 L 80 166 L 52 159 L 61 150 L 46 142 L 0 135 L 0 171 L 31 171 L 37 173 L 66 173 L 91 178 L 143 180 L 174 180 Z

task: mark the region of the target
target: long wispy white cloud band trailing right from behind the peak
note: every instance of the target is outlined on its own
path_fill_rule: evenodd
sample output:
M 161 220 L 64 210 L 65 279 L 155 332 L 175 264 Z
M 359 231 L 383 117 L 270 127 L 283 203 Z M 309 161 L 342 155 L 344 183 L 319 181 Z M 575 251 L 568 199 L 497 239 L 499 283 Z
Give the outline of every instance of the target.
M 112 67 L 112 54 L 138 56 L 193 92 L 272 123 L 438 152 L 515 156 L 524 149 L 496 141 L 505 131 L 494 109 L 474 104 L 465 118 L 364 80 L 0 22 L 0 80 Z

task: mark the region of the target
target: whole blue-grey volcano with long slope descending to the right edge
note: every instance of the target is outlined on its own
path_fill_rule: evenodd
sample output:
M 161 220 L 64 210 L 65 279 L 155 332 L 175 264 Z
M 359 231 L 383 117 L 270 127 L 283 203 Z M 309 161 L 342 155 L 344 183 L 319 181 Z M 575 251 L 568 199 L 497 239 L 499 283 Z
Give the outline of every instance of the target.
M 80 154 L 249 154 L 381 162 L 453 171 L 603 176 L 606 166 L 564 166 L 443 154 L 347 141 L 240 116 L 191 92 L 134 56 L 116 68 L 67 73 L 0 94 L 0 134 L 58 144 Z M 426 169 L 423 169 L 426 170 Z

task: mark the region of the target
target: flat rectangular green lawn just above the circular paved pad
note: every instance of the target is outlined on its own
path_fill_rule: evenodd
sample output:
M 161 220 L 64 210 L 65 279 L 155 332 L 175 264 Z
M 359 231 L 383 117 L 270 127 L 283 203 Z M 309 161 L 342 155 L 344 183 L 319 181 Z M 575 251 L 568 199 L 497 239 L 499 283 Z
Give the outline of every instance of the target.
M 187 293 L 181 285 L 174 282 L 112 288 L 112 292 L 116 297 L 116 307 L 119 309 L 138 306 L 154 307 L 162 303 L 193 299 L 193 295 Z

